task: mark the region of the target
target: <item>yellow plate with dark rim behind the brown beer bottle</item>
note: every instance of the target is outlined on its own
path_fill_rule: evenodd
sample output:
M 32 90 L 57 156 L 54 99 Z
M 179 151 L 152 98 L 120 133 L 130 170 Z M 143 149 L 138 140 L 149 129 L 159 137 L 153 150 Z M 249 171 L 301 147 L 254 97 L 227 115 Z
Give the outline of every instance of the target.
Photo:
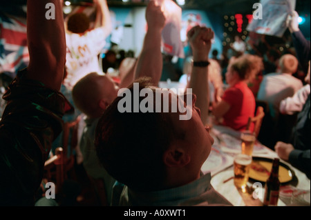
M 249 179 L 265 183 L 270 176 L 273 159 L 265 157 L 253 157 L 249 168 Z M 294 171 L 285 163 L 279 162 L 279 180 L 288 183 L 294 178 Z

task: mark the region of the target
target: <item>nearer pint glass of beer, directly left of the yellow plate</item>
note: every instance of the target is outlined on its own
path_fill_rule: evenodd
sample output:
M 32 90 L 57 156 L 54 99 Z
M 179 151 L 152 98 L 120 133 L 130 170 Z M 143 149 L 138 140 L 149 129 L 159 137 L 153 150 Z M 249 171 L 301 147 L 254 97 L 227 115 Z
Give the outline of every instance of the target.
M 238 154 L 234 157 L 234 185 L 237 188 L 245 188 L 248 181 L 249 166 L 252 157 L 246 154 Z

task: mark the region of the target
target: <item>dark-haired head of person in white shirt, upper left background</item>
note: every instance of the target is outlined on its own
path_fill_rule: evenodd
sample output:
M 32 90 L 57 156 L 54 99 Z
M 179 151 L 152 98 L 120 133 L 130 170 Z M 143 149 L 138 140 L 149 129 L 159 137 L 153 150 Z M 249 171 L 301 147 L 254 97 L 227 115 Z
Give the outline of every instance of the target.
M 90 28 L 90 19 L 86 14 L 78 12 L 70 15 L 67 22 L 67 29 L 75 34 L 86 32 Z

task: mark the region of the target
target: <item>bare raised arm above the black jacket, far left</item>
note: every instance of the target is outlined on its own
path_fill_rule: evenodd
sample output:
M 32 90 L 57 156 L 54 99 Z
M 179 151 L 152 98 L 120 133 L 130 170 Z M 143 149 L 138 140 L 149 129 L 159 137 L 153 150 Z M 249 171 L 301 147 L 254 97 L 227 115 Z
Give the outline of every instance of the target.
M 66 40 L 59 0 L 27 1 L 28 78 L 59 90 L 64 77 Z

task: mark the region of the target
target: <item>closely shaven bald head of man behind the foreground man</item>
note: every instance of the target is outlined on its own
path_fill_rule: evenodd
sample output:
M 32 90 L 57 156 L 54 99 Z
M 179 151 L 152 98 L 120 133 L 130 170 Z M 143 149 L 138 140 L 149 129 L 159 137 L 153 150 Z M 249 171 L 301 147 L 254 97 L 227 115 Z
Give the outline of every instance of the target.
M 87 74 L 73 87 L 75 106 L 88 117 L 100 117 L 116 97 L 117 88 L 113 80 L 97 72 Z

